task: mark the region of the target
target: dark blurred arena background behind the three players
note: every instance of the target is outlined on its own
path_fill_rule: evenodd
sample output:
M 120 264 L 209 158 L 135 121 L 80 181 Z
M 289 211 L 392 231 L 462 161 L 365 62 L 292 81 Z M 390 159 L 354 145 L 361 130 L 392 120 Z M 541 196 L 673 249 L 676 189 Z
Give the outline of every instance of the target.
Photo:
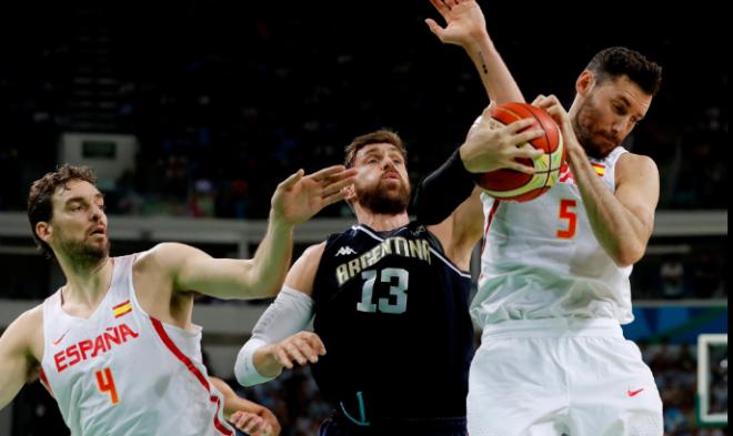
M 100 173 L 112 254 L 174 240 L 249 256 L 287 174 L 340 163 L 353 136 L 388 126 L 408 143 L 415 183 L 460 145 L 486 104 L 468 57 L 423 23 L 436 18 L 428 0 L 250 3 L 3 8 L 0 331 L 61 285 L 58 267 L 37 254 L 23 212 L 30 183 L 60 163 Z M 530 100 L 555 93 L 569 105 L 576 74 L 604 47 L 629 45 L 663 65 L 662 90 L 625 144 L 652 156 L 662 178 L 656 229 L 632 275 L 636 321 L 625 333 L 656 376 L 666 435 L 727 435 L 722 17 L 704 4 L 662 13 L 639 3 L 588 10 L 481 1 Z M 347 207 L 329 207 L 298 230 L 295 254 L 352 222 Z M 194 321 L 214 375 L 231 379 L 267 304 L 200 302 Z M 699 345 L 701 334 L 722 336 Z M 440 391 L 440 381 L 426 382 Z M 285 436 L 315 434 L 330 407 L 307 369 L 240 394 L 270 407 Z M 0 435 L 64 429 L 40 384 L 0 412 Z

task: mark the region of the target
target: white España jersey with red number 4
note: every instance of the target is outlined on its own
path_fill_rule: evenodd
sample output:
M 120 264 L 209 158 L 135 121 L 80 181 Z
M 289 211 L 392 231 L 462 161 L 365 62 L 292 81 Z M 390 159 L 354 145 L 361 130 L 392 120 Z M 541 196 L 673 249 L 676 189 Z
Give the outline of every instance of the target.
M 149 316 L 132 287 L 134 255 L 116 257 L 110 288 L 88 318 L 43 303 L 42 381 L 74 436 L 234 435 L 201 358 L 201 328 Z

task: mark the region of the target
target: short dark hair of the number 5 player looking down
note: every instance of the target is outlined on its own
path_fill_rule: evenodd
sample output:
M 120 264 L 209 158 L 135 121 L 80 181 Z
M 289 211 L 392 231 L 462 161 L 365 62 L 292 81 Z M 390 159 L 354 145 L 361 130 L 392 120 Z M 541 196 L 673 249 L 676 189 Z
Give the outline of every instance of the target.
M 610 47 L 599 51 L 585 69 L 595 74 L 599 82 L 626 75 L 652 97 L 662 84 L 662 67 L 625 47 Z

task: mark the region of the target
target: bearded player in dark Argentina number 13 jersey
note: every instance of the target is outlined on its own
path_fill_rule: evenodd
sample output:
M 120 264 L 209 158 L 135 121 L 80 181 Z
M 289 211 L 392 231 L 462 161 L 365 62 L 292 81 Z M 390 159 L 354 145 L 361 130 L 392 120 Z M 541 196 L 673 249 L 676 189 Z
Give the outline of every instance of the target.
M 539 135 L 516 133 L 528 125 L 481 123 L 462 153 L 531 173 L 513 162 L 538 155 L 516 146 Z M 473 355 L 466 271 L 482 233 L 481 206 L 476 196 L 435 225 L 410 222 L 405 154 L 385 130 L 345 149 L 345 165 L 358 170 L 347 201 L 359 224 L 304 252 L 237 361 L 245 386 L 314 364 L 321 392 L 338 406 L 323 436 L 465 435 Z M 451 159 L 460 161 L 459 153 Z M 466 196 L 471 191 L 478 195 L 469 186 Z M 313 317 L 314 333 L 301 332 Z

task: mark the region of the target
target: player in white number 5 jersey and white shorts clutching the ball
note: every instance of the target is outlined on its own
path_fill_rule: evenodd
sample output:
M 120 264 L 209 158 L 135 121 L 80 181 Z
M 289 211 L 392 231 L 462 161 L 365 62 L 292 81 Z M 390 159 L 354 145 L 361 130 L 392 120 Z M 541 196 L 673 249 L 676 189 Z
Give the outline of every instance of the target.
M 429 27 L 471 54 L 490 98 L 523 101 L 475 1 L 432 3 L 448 27 Z M 600 51 L 575 81 L 569 112 L 554 97 L 534 101 L 563 133 L 568 165 L 559 183 L 528 203 L 482 195 L 484 246 L 471 315 L 483 336 L 471 364 L 472 436 L 662 435 L 654 378 L 621 329 L 633 321 L 629 275 L 659 199 L 656 165 L 621 142 L 646 114 L 660 80 L 661 68 L 635 51 Z M 442 172 L 439 180 L 464 192 L 455 186 L 468 178 Z M 435 195 L 424 191 L 422 200 Z

